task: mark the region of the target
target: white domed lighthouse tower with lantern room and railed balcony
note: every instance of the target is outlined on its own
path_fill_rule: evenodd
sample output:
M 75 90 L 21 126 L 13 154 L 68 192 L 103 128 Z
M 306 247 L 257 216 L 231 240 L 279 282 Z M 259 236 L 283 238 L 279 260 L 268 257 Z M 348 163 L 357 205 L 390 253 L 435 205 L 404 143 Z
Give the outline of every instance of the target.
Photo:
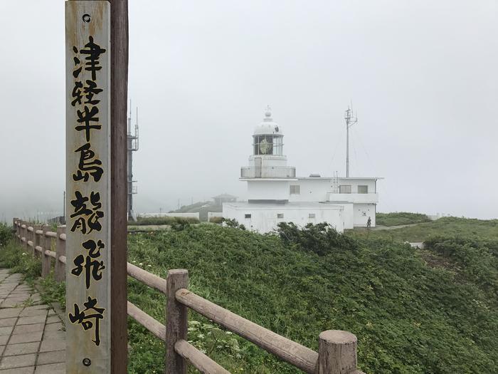
M 272 118 L 270 107 L 253 133 L 253 154 L 249 166 L 240 168 L 240 180 L 248 182 L 249 203 L 285 204 L 289 186 L 296 180 L 296 168 L 287 166 L 282 127 Z

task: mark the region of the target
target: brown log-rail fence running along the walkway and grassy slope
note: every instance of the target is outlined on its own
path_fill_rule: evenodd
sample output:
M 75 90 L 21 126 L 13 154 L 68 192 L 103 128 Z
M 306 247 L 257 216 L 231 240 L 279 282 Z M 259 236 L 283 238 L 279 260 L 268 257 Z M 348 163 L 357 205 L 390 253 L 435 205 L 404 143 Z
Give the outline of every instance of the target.
M 15 235 L 26 252 L 41 258 L 43 277 L 55 261 L 55 280 L 65 280 L 65 227 L 50 227 L 14 218 Z M 55 241 L 55 251 L 52 251 Z M 347 331 L 328 330 L 318 336 L 318 353 L 238 316 L 189 291 L 189 272 L 168 271 L 167 279 L 127 264 L 128 275 L 166 295 L 166 326 L 128 301 L 128 315 L 147 328 L 166 346 L 166 374 L 185 374 L 188 363 L 201 373 L 229 373 L 187 341 L 188 308 L 218 323 L 238 336 L 310 374 L 364 374 L 356 369 L 356 336 Z

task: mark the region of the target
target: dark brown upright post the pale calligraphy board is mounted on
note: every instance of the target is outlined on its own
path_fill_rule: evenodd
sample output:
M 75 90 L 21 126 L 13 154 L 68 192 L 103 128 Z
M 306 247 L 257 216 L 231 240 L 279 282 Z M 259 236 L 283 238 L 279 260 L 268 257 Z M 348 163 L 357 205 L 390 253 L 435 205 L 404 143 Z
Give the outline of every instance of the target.
M 128 0 L 111 3 L 111 371 L 127 373 Z

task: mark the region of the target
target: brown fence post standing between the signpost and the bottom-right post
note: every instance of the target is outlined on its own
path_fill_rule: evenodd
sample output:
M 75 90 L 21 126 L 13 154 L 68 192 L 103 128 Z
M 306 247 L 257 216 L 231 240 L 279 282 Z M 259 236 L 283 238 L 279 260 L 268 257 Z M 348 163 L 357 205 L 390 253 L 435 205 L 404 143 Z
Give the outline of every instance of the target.
M 171 269 L 166 278 L 166 374 L 185 374 L 187 364 L 174 350 L 176 341 L 187 338 L 187 307 L 176 300 L 176 291 L 189 286 L 189 271 Z

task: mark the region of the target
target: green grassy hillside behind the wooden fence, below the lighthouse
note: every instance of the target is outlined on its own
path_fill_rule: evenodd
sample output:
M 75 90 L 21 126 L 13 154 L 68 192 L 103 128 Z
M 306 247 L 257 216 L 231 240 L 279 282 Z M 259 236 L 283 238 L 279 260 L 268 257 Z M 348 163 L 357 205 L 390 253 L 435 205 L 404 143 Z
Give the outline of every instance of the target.
M 366 373 L 498 373 L 496 222 L 430 224 L 460 241 L 417 251 L 377 232 L 291 230 L 282 240 L 201 224 L 130 236 L 129 261 L 161 276 L 189 269 L 194 292 L 315 350 L 321 331 L 351 331 Z M 464 233 L 474 239 L 462 241 Z M 475 240 L 484 233 L 487 241 Z M 157 292 L 130 281 L 129 298 L 164 321 Z M 190 319 L 189 340 L 232 373 L 298 373 L 195 313 Z M 161 343 L 136 323 L 130 337 L 129 372 L 159 372 Z

